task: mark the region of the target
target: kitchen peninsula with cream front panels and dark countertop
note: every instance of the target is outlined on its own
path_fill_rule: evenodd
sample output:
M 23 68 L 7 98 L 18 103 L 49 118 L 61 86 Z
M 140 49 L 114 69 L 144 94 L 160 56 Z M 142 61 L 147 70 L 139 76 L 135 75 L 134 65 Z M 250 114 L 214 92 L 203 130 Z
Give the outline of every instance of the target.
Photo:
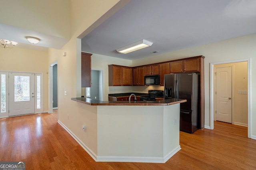
M 91 138 L 95 138 L 97 147 L 84 148 L 96 161 L 164 163 L 181 149 L 180 103 L 186 100 L 71 100 L 85 107 L 83 114 L 87 114 L 87 109 L 94 112 L 96 134 Z M 87 126 L 86 131 L 90 130 Z

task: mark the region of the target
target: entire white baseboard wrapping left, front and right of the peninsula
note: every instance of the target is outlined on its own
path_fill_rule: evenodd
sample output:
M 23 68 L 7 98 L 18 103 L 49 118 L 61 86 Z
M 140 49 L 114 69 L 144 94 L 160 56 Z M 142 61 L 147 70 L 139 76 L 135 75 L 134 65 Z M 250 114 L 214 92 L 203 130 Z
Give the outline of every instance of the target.
M 181 148 L 180 145 L 169 152 L 164 157 L 143 157 L 143 156 L 97 156 L 88 148 L 72 131 L 70 131 L 61 121 L 58 123 L 78 142 L 78 144 L 96 161 L 96 162 L 148 162 L 148 163 L 165 163 Z

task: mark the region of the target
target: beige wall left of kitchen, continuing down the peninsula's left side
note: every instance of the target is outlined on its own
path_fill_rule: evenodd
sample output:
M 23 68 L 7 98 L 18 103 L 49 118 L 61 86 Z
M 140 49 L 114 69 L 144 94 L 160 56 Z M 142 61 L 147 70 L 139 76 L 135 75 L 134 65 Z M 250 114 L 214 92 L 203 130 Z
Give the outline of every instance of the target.
M 71 39 L 62 49 L 48 51 L 48 65 L 58 62 L 58 120 L 95 154 L 97 115 L 94 113 L 97 113 L 97 108 L 71 100 L 81 96 L 81 40 L 77 37 L 117 2 L 118 0 L 70 1 Z M 62 56 L 64 51 L 66 57 Z M 67 91 L 67 96 L 64 91 Z M 83 124 L 87 127 L 86 133 L 82 130 Z

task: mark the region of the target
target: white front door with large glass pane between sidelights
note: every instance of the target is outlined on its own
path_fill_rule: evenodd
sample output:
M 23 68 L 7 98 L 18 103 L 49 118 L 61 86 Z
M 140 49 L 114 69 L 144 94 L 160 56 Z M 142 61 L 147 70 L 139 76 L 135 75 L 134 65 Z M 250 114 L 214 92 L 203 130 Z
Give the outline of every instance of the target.
M 9 116 L 35 113 L 34 73 L 9 72 Z

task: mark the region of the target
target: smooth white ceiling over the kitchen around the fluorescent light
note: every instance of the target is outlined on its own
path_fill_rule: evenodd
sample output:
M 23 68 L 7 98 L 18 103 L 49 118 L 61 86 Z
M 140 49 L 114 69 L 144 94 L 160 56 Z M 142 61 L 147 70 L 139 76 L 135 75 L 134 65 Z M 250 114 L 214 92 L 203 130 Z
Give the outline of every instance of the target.
M 82 39 L 82 51 L 135 60 L 252 33 L 256 0 L 132 0 Z M 153 45 L 116 51 L 140 39 Z

